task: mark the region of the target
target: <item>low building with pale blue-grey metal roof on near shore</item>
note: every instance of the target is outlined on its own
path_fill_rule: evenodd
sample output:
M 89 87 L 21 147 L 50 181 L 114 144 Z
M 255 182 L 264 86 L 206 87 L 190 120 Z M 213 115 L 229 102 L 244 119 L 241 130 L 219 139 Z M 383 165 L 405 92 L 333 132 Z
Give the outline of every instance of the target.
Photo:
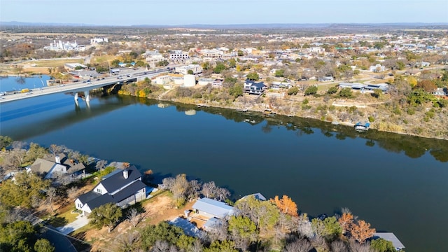
M 207 218 L 221 219 L 225 218 L 225 216 L 231 216 L 234 213 L 232 206 L 209 198 L 197 200 L 192 208 L 196 214 Z

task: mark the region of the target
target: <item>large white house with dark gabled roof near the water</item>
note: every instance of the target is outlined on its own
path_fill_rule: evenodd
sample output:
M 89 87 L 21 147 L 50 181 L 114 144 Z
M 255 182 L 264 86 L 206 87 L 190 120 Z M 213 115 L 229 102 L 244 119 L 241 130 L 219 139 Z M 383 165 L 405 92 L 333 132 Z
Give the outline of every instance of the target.
M 115 203 L 118 207 L 127 207 L 146 198 L 146 185 L 141 182 L 141 173 L 132 165 L 127 169 L 116 171 L 104 176 L 90 192 L 80 195 L 75 200 L 76 209 L 83 214 L 104 204 Z

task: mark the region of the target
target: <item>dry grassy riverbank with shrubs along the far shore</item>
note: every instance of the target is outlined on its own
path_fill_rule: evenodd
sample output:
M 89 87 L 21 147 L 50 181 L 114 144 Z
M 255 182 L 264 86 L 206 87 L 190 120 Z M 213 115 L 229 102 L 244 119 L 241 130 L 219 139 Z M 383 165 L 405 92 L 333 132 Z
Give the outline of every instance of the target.
M 267 92 L 265 97 L 255 98 L 253 95 L 244 94 L 242 97 L 235 99 L 234 102 L 223 103 L 209 101 L 207 99 L 174 97 L 169 95 L 170 92 L 174 92 L 174 90 L 165 91 L 163 95 L 150 94 L 148 95 L 148 98 L 167 102 L 193 104 L 197 106 L 204 105 L 223 109 L 233 109 L 235 111 L 247 110 L 264 113 L 266 110 L 269 110 L 277 115 L 311 118 L 321 120 L 326 123 L 337 123 L 348 127 L 353 127 L 357 122 L 368 122 L 369 116 L 374 115 L 374 117 L 372 117 L 374 118 L 374 122 L 370 122 L 371 129 L 378 130 L 380 132 L 390 132 L 407 136 L 448 140 L 448 129 L 443 127 L 443 125 L 448 124 L 448 114 L 445 113 L 444 115 L 444 111 L 447 111 L 446 108 L 443 109 L 443 111 L 440 111 L 440 121 L 438 123 L 428 123 L 424 122 L 422 120 L 423 116 L 418 115 L 418 113 L 414 115 L 407 115 L 404 113 L 396 115 L 394 113 L 390 113 L 391 111 L 384 108 L 387 106 L 388 99 L 390 99 L 390 96 L 386 95 L 384 95 L 381 102 L 374 99 L 369 99 L 364 102 L 353 102 L 347 99 L 330 99 L 325 102 L 323 101 L 323 97 L 293 97 L 288 95 L 286 95 L 286 98 L 283 99 L 276 97 L 272 99 L 273 96 L 269 95 L 269 92 Z M 337 104 L 337 102 L 342 103 L 344 106 Z M 275 106 L 273 106 L 273 104 Z M 335 104 L 337 104 L 337 106 Z M 286 109 L 285 106 L 287 107 Z M 397 113 L 397 111 L 395 111 L 395 113 Z M 402 123 L 392 123 L 391 119 L 396 119 L 398 116 L 402 116 L 404 118 L 401 120 Z M 346 118 L 346 120 L 340 120 L 341 118 Z M 446 122 L 446 124 L 444 124 L 444 122 Z M 421 125 L 421 127 L 418 125 Z M 427 134 L 422 134 L 422 127 L 427 129 L 425 132 Z M 422 131 L 421 134 L 419 134 L 418 131 Z

